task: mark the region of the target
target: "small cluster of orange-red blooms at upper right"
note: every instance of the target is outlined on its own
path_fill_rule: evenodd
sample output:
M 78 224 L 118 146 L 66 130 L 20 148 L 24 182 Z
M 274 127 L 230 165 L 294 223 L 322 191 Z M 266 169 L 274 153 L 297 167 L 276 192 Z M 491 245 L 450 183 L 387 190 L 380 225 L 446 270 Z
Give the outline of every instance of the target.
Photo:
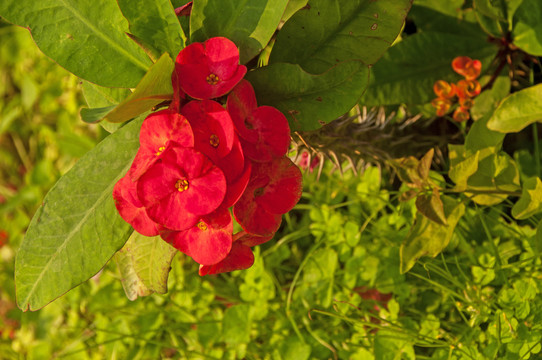
M 467 56 L 459 56 L 452 61 L 452 68 L 465 79 L 459 80 L 457 84 L 444 80 L 435 82 L 433 91 L 437 98 L 433 99 L 431 105 L 437 109 L 438 116 L 444 116 L 457 96 L 459 107 L 455 109 L 453 119 L 462 122 L 470 118 L 469 109 L 474 104 L 473 98 L 480 94 L 480 83 L 476 79 L 480 76 L 482 63 Z

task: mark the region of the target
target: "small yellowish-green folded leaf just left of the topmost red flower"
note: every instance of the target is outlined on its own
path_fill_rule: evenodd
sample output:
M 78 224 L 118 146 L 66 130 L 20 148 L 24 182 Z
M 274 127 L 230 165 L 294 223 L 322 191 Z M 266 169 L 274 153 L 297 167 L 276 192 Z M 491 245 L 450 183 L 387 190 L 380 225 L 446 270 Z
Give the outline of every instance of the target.
M 105 120 L 119 123 L 149 111 L 153 106 L 172 97 L 171 73 L 175 64 L 167 53 L 149 69 L 134 92 L 105 116 Z

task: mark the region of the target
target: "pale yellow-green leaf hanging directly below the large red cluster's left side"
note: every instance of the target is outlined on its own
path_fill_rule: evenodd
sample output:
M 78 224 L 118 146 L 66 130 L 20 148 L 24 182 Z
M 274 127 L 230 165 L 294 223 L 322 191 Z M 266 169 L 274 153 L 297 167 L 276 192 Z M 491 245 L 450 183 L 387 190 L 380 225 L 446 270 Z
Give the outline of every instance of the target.
M 132 266 L 143 285 L 151 292 L 165 294 L 171 261 L 177 249 L 159 236 L 147 237 L 132 233 L 123 250 L 132 259 Z

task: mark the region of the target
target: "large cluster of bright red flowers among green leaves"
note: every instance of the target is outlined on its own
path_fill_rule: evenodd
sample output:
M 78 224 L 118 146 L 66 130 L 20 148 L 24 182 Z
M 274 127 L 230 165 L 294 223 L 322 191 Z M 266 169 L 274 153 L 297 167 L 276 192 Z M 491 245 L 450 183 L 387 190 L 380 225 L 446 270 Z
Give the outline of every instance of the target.
M 200 275 L 252 266 L 251 247 L 270 240 L 301 197 L 301 172 L 286 157 L 288 121 L 257 105 L 245 74 L 226 38 L 184 48 L 173 101 L 145 119 L 139 151 L 113 190 L 126 222 L 192 257 Z

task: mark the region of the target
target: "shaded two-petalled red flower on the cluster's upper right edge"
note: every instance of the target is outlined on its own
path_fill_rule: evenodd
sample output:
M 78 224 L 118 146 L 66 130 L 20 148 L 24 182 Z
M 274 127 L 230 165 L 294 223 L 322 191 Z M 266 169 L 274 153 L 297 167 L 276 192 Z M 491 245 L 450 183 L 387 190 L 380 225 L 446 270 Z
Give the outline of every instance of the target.
M 228 95 L 227 109 L 249 159 L 265 162 L 286 154 L 290 146 L 288 120 L 274 107 L 257 107 L 248 81 L 241 81 Z

